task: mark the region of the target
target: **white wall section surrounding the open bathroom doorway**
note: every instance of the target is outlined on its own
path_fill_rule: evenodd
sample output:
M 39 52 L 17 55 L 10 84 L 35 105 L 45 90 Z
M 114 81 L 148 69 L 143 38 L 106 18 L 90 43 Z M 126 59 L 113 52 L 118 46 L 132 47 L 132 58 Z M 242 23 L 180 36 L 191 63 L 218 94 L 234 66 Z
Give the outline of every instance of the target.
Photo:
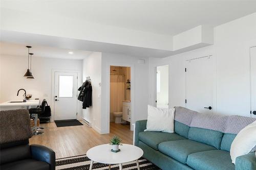
M 108 82 L 110 77 L 110 65 L 131 66 L 131 104 L 132 114 L 134 115 L 132 117 L 132 123 L 134 123 L 135 120 L 146 119 L 148 104 L 148 59 L 144 60 L 144 64 L 138 64 L 138 58 L 132 56 L 102 53 L 101 133 L 109 133 Z

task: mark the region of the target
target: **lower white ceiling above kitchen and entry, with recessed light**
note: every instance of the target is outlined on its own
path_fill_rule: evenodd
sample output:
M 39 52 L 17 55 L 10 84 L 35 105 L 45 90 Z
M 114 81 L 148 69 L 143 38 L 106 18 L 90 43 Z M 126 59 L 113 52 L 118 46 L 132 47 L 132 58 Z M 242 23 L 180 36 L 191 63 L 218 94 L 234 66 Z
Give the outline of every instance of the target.
M 28 48 L 26 47 L 26 45 L 31 45 L 31 44 L 0 42 L 1 55 L 27 56 Z M 69 54 L 69 52 L 73 52 L 73 54 Z M 32 45 L 32 48 L 30 48 L 30 53 L 34 53 L 33 57 L 82 60 L 84 59 L 84 57 L 89 56 L 92 52 Z

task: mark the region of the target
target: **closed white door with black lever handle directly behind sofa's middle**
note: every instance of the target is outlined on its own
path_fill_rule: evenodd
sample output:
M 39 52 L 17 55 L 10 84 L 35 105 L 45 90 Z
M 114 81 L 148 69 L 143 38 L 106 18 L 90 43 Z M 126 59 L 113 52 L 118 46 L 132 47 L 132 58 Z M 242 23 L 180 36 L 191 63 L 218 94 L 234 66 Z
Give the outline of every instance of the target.
M 186 61 L 186 108 L 212 113 L 214 60 L 212 56 Z

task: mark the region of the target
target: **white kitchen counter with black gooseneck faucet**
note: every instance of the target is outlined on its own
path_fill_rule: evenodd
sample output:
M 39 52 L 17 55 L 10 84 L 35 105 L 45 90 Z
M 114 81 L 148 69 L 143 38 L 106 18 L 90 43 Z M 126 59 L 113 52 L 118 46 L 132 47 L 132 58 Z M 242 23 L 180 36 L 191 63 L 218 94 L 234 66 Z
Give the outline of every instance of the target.
M 27 100 L 27 102 L 11 103 L 12 101 L 4 102 L 0 104 L 0 110 L 12 110 L 12 109 L 29 109 L 31 107 L 39 106 L 39 100 Z

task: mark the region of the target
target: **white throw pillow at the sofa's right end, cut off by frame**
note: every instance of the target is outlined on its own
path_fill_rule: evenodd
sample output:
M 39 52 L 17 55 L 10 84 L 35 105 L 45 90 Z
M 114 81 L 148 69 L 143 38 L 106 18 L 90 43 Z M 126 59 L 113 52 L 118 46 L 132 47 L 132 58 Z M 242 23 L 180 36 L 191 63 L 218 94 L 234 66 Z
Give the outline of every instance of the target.
M 236 158 L 241 155 L 248 154 L 256 145 L 256 121 L 247 125 L 234 138 L 230 156 L 232 163 L 236 164 Z

